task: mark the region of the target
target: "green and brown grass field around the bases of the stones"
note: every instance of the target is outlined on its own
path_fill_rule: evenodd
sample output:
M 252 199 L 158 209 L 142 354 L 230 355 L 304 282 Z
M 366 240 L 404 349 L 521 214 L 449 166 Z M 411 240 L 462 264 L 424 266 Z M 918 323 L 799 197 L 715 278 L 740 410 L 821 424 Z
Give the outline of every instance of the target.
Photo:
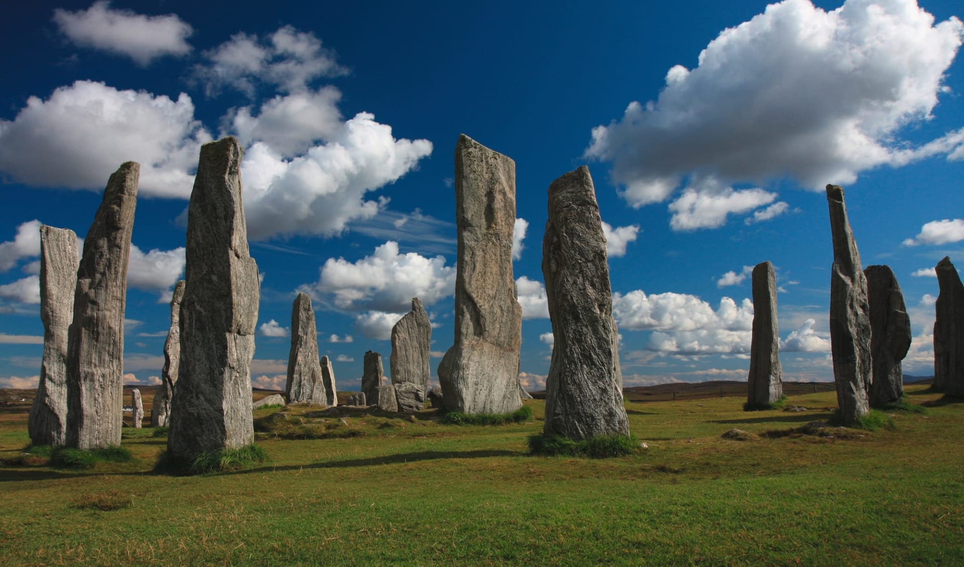
M 799 412 L 628 401 L 649 448 L 604 460 L 529 456 L 541 400 L 494 427 L 345 411 L 295 420 L 353 437 L 261 433 L 268 464 L 180 477 L 151 472 L 150 428 L 125 428 L 129 463 L 21 458 L 29 404 L 11 403 L 0 565 L 964 565 L 964 404 L 925 389 L 924 414 L 832 436 L 790 430 L 829 419 L 833 392 L 790 395 Z

